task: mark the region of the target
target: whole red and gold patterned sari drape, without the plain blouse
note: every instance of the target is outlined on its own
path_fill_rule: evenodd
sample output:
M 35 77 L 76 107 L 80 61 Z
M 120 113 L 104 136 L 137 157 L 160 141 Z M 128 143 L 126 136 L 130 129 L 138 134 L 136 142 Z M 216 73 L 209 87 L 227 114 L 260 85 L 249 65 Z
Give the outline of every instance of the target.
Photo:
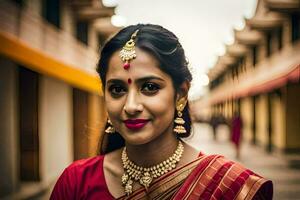
M 272 199 L 272 182 L 219 155 L 200 155 L 173 170 L 146 191 L 119 199 Z

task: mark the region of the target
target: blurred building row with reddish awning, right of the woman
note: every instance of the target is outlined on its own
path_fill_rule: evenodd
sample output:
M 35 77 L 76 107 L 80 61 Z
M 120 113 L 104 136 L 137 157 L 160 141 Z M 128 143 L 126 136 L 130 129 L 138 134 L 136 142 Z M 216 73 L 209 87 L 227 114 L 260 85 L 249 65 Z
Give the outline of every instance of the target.
M 258 0 L 209 72 L 210 92 L 194 113 L 239 112 L 244 139 L 283 152 L 300 150 L 300 1 Z

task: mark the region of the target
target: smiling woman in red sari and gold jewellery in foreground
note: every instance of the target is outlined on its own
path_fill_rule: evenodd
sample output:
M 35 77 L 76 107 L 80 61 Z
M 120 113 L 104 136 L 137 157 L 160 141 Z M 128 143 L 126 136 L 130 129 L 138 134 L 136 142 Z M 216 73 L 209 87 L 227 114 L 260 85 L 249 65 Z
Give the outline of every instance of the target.
M 181 138 L 191 133 L 192 76 L 177 37 L 161 26 L 122 29 L 98 72 L 109 119 L 101 155 L 71 164 L 51 199 L 271 199 L 272 182 Z

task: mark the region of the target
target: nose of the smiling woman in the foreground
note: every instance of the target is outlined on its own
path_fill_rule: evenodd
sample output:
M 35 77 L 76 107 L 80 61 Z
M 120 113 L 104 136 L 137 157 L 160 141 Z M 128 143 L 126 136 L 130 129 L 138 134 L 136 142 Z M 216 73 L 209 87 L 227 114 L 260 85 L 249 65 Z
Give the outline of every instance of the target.
M 140 102 L 140 96 L 138 92 L 129 91 L 124 105 L 124 111 L 128 115 L 136 115 L 143 111 L 143 105 Z

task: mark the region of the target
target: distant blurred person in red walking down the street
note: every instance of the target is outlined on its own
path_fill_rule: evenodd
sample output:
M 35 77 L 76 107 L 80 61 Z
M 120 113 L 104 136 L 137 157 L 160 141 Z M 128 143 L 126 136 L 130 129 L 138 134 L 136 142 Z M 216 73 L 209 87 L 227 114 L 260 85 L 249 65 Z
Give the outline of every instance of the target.
M 235 145 L 236 158 L 240 158 L 240 143 L 242 137 L 243 122 L 238 112 L 234 113 L 231 124 L 231 141 Z

